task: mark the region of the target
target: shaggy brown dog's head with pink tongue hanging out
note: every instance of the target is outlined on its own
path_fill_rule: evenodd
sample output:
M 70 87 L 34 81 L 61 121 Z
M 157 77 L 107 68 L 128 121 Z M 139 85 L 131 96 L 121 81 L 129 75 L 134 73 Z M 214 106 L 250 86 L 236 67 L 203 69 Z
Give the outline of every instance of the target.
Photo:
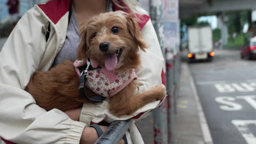
M 139 49 L 147 48 L 135 18 L 123 11 L 93 17 L 81 31 L 81 38 L 78 59 L 89 57 L 92 67 L 107 70 L 138 68 Z

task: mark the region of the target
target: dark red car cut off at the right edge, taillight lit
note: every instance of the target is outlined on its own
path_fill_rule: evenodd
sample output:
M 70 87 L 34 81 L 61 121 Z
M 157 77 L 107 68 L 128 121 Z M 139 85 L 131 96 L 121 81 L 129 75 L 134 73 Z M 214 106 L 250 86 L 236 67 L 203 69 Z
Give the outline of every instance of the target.
M 246 41 L 241 49 L 241 58 L 256 58 L 256 37 Z

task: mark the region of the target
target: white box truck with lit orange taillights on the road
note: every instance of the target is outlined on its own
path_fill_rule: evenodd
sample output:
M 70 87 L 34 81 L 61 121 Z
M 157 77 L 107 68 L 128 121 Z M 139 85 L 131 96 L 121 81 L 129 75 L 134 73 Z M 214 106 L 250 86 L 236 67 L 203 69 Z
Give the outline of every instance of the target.
M 212 61 L 213 36 L 210 26 L 188 27 L 188 58 L 189 61 Z

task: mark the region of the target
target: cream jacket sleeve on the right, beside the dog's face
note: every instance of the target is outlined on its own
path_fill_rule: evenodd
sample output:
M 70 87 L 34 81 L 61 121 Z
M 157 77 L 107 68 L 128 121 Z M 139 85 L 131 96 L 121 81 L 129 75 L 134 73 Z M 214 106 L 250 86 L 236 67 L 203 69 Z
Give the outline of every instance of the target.
M 149 48 L 146 52 L 141 51 L 141 69 L 136 71 L 138 81 L 141 83 L 139 93 L 147 91 L 150 87 L 161 85 L 161 73 L 164 69 L 164 57 L 151 20 L 142 29 L 142 35 Z

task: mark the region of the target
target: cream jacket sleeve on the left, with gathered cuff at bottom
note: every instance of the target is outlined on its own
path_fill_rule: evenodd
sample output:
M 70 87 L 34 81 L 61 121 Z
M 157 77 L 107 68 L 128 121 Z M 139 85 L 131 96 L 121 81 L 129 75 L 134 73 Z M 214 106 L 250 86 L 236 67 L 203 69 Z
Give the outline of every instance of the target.
M 33 8 L 0 52 L 0 136 L 15 143 L 79 143 L 84 123 L 54 109 L 46 112 L 24 91 L 45 51 L 42 15 Z

